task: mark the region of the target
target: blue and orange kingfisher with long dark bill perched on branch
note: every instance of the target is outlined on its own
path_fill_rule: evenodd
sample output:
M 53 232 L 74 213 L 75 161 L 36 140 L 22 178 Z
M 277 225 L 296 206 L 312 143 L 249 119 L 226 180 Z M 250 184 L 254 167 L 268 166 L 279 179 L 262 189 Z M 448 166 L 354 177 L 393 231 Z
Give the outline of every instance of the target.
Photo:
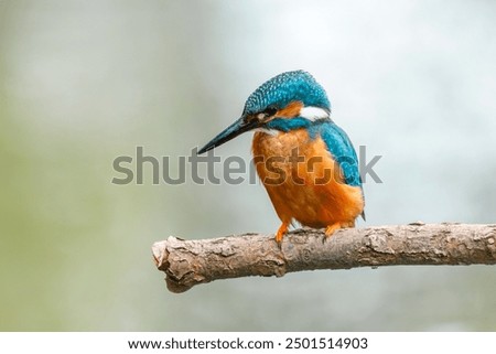
M 255 131 L 254 162 L 281 226 L 281 248 L 290 225 L 325 228 L 324 240 L 365 219 L 358 159 L 346 132 L 331 119 L 325 89 L 304 71 L 279 74 L 246 100 L 241 117 L 198 154 Z

